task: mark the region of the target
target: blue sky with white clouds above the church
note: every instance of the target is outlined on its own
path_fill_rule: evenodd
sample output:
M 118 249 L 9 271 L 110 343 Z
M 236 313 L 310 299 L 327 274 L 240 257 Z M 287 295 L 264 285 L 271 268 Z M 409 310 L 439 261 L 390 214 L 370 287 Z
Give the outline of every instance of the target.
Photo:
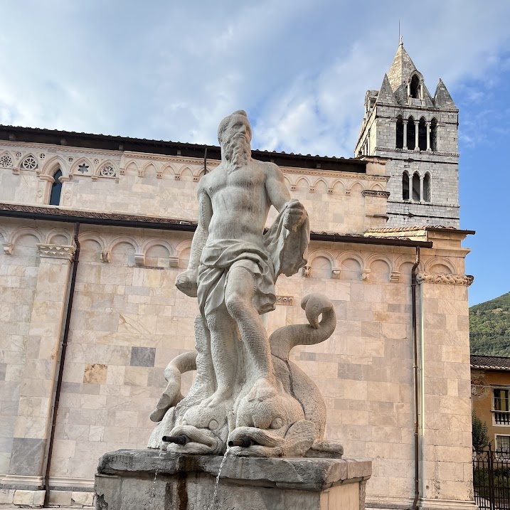
M 2 0 L 0 124 L 217 144 L 243 109 L 253 149 L 351 157 L 400 22 L 427 88 L 442 78 L 460 111 L 469 304 L 484 302 L 510 291 L 510 2 L 403 5 Z

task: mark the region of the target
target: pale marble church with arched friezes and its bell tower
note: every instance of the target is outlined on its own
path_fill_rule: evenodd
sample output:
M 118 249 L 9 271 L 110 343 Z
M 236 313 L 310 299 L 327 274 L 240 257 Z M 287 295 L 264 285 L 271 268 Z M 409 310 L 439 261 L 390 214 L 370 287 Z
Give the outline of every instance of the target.
M 266 324 L 306 322 L 310 292 L 334 303 L 333 336 L 291 356 L 324 395 L 326 437 L 373 459 L 368 506 L 474 509 L 457 110 L 406 55 L 367 94 L 356 158 L 253 151 L 280 166 L 312 228 Z M 0 504 L 90 506 L 97 459 L 146 447 L 164 368 L 194 349 L 196 299 L 174 283 L 198 181 L 220 159 L 0 126 Z

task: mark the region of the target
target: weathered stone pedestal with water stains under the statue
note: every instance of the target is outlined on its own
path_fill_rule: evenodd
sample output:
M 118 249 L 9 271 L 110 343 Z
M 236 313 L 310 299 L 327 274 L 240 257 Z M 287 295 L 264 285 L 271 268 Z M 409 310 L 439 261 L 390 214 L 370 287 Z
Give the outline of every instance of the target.
M 208 510 L 222 457 L 158 454 L 103 455 L 96 509 Z M 362 510 L 371 471 L 366 459 L 227 457 L 213 510 Z

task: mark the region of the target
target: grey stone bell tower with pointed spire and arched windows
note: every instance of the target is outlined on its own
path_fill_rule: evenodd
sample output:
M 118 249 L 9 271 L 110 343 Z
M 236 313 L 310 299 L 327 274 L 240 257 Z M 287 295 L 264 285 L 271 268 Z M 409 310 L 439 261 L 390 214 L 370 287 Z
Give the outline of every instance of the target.
M 434 97 L 402 38 L 380 90 L 368 90 L 355 156 L 388 158 L 388 227 L 459 228 L 459 110 L 439 80 Z

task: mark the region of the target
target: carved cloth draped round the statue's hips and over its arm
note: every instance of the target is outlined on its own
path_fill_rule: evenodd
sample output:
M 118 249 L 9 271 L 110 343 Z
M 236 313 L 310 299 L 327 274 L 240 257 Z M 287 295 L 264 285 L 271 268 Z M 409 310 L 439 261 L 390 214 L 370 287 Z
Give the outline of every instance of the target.
M 285 227 L 290 201 L 271 228 L 262 235 L 262 247 L 225 239 L 206 245 L 198 270 L 198 305 L 203 317 L 225 302 L 225 286 L 232 267 L 245 267 L 255 279 L 253 304 L 259 314 L 275 309 L 275 282 L 281 274 L 292 276 L 306 264 L 302 254 L 309 242 L 308 218 L 297 228 Z

